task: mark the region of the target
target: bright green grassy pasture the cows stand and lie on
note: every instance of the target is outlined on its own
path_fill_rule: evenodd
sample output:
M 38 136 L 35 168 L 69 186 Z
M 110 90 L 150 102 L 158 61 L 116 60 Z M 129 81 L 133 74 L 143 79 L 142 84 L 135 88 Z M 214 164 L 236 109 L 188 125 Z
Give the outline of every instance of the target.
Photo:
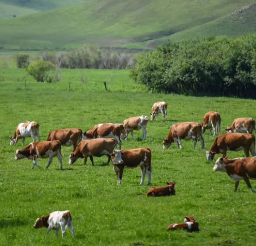
M 88 83 L 82 84 L 85 74 Z M 213 172 L 214 163 L 207 162 L 198 143 L 182 141 L 162 149 L 162 138 L 173 123 L 201 122 L 210 110 L 222 116 L 222 132 L 236 117 L 256 117 L 254 100 L 218 97 L 185 97 L 148 94 L 128 77 L 129 71 L 63 70 L 59 83 L 37 83 L 27 78 L 24 70 L 0 68 L 0 245 L 90 245 L 90 246 L 180 246 L 180 245 L 255 245 L 256 199 L 241 181 L 234 193 L 234 181 L 228 175 Z M 18 82 L 16 79 L 20 78 Z M 71 79 L 71 90 L 68 81 Z M 102 81 L 110 79 L 109 91 Z M 57 158 L 48 169 L 47 160 L 38 159 L 41 168 L 31 170 L 31 160 L 14 161 L 19 141 L 9 146 L 8 136 L 18 123 L 34 120 L 40 123 L 41 140 L 53 129 L 79 127 L 83 130 L 97 123 L 122 123 L 128 117 L 148 115 L 153 103 L 168 104 L 166 121 L 148 122 L 148 136 L 141 140 L 141 131 L 123 141 L 124 149 L 149 147 L 152 150 L 152 186 L 176 181 L 176 195 L 148 198 L 148 186 L 139 186 L 139 168 L 125 169 L 122 185 L 117 185 L 107 158 L 94 158 L 86 166 L 78 160 L 68 165 L 72 147 L 62 147 L 63 171 Z M 214 140 L 205 135 L 205 149 Z M 26 144 L 31 139 L 26 139 Z M 220 155 L 217 155 L 219 157 Z M 243 152 L 228 152 L 243 157 Z M 147 178 L 146 178 L 147 182 Z M 256 183 L 251 181 L 255 188 Z M 65 240 L 46 229 L 35 230 L 40 215 L 69 209 L 73 215 L 75 238 L 69 230 Z M 167 232 L 170 223 L 182 222 L 184 216 L 195 214 L 201 231 Z

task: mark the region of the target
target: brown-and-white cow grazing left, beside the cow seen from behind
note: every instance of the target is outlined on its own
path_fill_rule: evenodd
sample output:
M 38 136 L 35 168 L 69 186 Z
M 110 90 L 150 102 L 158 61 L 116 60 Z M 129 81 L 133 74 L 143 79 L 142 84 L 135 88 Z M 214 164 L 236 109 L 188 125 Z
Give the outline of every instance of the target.
M 201 141 L 201 148 L 204 148 L 204 139 L 202 136 L 202 126 L 198 122 L 183 122 L 177 123 L 171 126 L 168 136 L 163 140 L 163 149 L 169 148 L 172 142 L 177 142 L 177 149 L 182 149 L 181 139 L 194 140 L 194 146 L 196 145 L 197 139 Z

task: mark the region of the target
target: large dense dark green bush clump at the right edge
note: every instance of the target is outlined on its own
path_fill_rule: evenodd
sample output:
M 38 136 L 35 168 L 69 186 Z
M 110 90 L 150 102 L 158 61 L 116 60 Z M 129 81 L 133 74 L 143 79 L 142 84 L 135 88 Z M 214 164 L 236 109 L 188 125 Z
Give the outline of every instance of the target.
M 168 42 L 135 62 L 131 77 L 151 91 L 256 98 L 256 35 Z

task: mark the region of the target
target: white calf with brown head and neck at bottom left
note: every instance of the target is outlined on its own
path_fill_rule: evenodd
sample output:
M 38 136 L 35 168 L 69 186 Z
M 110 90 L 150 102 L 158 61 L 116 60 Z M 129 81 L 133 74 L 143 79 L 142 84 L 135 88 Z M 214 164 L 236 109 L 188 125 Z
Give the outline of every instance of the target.
M 74 227 L 72 216 L 68 210 L 66 211 L 55 211 L 47 216 L 42 215 L 40 218 L 37 218 L 34 224 L 34 228 L 47 228 L 47 235 L 50 230 L 56 230 L 55 236 L 58 237 L 59 231 L 61 228 L 62 238 L 65 235 L 65 230 L 67 227 L 70 228 L 72 236 L 74 237 Z

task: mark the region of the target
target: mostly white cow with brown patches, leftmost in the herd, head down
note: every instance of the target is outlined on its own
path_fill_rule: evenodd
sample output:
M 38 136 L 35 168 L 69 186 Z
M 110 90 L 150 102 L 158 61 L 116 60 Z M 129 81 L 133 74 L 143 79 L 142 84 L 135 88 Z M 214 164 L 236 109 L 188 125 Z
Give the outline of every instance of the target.
M 20 123 L 17 125 L 13 136 L 9 136 L 10 145 L 16 144 L 19 139 L 22 138 L 22 145 L 24 145 L 26 137 L 32 137 L 35 142 L 35 135 L 37 135 L 38 141 L 40 142 L 39 136 L 39 124 L 34 121 L 27 121 L 26 123 Z

